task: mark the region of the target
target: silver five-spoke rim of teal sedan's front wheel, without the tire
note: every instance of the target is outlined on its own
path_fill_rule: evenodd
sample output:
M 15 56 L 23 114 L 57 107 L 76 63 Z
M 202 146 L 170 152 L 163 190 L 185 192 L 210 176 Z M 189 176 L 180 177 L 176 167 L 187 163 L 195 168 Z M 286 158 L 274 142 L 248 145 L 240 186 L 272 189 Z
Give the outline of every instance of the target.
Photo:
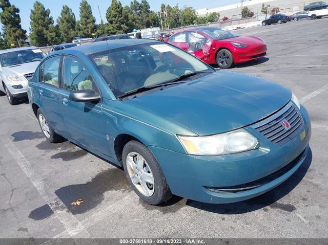
M 147 161 L 137 152 L 127 156 L 127 170 L 133 185 L 145 196 L 152 196 L 155 191 L 155 181 Z

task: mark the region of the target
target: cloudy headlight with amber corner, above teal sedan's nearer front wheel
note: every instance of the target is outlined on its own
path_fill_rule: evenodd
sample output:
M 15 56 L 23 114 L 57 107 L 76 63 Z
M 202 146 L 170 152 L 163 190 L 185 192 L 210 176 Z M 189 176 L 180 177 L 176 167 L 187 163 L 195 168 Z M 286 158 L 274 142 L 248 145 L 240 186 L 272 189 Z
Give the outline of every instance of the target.
M 177 136 L 189 154 L 224 155 L 253 150 L 258 140 L 244 129 L 212 136 Z

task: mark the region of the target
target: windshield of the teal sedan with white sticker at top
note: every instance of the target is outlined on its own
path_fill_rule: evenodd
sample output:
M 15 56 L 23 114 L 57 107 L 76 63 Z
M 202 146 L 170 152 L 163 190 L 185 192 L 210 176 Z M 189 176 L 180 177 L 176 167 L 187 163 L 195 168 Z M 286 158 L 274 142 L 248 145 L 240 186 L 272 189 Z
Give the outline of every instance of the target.
M 213 69 L 169 44 L 151 42 L 89 55 L 116 96 Z

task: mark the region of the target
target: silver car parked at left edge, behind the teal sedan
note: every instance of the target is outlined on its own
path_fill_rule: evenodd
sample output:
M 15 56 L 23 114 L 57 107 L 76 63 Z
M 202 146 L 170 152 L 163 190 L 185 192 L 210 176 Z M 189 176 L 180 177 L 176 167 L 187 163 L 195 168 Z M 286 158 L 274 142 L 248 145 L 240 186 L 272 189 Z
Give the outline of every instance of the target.
M 0 94 L 5 93 L 10 104 L 27 96 L 27 80 L 44 57 L 34 46 L 0 51 Z

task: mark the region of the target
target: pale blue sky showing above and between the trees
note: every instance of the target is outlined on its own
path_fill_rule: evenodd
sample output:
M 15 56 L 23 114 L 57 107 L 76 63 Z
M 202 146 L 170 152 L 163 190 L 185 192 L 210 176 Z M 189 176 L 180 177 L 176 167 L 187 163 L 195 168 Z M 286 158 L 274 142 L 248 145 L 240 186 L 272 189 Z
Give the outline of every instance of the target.
M 74 12 L 76 19 L 79 19 L 79 4 L 80 0 L 38 0 L 42 3 L 45 8 L 50 9 L 50 15 L 53 17 L 55 23 L 57 17 L 60 15 L 61 8 L 63 5 L 68 5 Z M 33 8 L 34 0 L 11 0 L 10 3 L 15 5 L 20 10 L 20 18 L 22 19 L 22 27 L 23 29 L 27 30 L 29 33 L 30 28 L 30 13 L 31 8 Z M 88 0 L 88 3 L 91 5 L 92 13 L 96 18 L 96 23 L 100 23 L 99 11 L 97 6 L 99 6 L 100 14 L 103 20 L 106 21 L 106 10 L 111 4 L 111 0 Z M 123 6 L 129 5 L 131 0 L 120 0 Z M 141 2 L 141 0 L 139 0 Z M 202 9 L 202 8 L 214 8 L 220 7 L 229 4 L 239 3 L 240 0 L 148 0 L 150 4 L 151 10 L 159 11 L 160 6 L 162 3 L 166 2 L 171 6 L 175 6 L 179 4 L 179 7 L 182 8 L 183 6 L 191 6 L 194 9 Z

